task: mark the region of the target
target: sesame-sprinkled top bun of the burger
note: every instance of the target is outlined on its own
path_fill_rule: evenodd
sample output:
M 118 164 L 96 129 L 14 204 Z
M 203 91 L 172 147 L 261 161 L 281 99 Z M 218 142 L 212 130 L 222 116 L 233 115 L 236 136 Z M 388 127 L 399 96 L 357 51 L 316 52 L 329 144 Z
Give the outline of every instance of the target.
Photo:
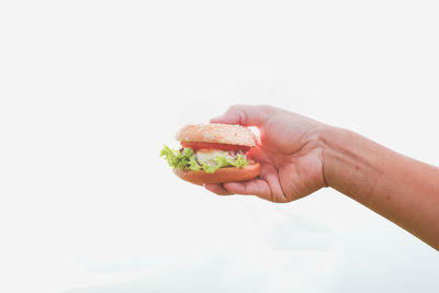
M 255 134 L 249 128 L 232 124 L 185 125 L 176 134 L 176 139 L 193 143 L 256 146 Z

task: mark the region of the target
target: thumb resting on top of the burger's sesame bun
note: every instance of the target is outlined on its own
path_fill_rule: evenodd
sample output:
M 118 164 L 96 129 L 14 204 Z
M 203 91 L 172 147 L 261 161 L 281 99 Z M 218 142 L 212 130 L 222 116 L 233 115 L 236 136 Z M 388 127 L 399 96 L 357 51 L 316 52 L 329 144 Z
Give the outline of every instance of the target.
M 273 111 L 274 108 L 268 105 L 233 105 L 223 115 L 212 119 L 211 123 L 262 126 Z

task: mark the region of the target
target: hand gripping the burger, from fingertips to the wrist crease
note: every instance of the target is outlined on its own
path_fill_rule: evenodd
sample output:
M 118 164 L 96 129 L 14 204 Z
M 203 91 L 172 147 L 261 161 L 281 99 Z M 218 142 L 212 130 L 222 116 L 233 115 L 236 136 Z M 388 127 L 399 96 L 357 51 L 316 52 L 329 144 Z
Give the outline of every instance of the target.
M 248 156 L 261 164 L 261 173 L 245 182 L 206 184 L 207 190 L 284 203 L 326 187 L 320 144 L 325 124 L 268 105 L 233 105 L 211 123 L 257 126 L 260 142 Z

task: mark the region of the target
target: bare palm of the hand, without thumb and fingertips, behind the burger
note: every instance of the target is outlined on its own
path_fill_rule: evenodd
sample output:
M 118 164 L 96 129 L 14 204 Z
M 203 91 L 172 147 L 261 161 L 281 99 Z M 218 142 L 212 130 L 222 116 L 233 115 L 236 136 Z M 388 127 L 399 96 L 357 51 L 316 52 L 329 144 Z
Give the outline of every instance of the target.
M 269 201 L 290 202 L 324 185 L 317 142 L 312 135 L 317 125 L 300 116 L 295 127 L 288 127 L 291 123 L 291 116 L 282 115 L 268 121 L 260 128 L 260 146 L 249 154 L 261 162 L 261 173 L 248 184 L 258 184 L 257 195 Z

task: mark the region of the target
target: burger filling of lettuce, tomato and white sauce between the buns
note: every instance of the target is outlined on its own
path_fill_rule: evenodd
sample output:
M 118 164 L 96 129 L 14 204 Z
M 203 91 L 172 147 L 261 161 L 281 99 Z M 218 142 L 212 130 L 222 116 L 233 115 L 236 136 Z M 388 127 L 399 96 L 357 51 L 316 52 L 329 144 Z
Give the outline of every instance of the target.
M 217 147 L 217 146 L 214 146 Z M 215 149 L 210 147 L 202 147 L 192 149 L 185 147 L 182 143 L 180 150 L 171 149 L 165 146 L 161 149 L 160 156 L 165 157 L 171 168 L 178 168 L 187 171 L 205 171 L 214 173 L 219 168 L 236 167 L 244 168 L 252 162 L 247 159 L 246 151 L 248 147 L 230 145 L 233 149 Z

